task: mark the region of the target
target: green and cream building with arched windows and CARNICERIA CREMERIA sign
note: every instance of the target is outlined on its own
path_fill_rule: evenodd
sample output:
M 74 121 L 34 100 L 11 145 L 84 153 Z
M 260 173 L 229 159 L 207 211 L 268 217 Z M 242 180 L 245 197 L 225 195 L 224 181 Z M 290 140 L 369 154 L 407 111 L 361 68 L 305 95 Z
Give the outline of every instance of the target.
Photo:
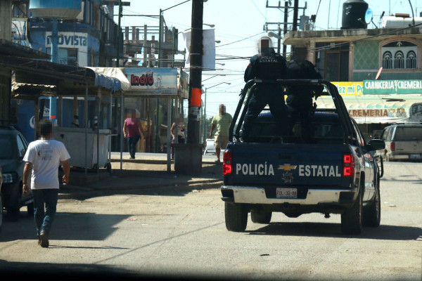
M 350 115 L 373 136 L 388 124 L 422 122 L 422 27 L 409 20 L 388 17 L 369 30 L 288 32 L 283 44 L 308 49 L 308 60 L 338 85 Z M 325 98 L 318 100 L 324 107 Z

